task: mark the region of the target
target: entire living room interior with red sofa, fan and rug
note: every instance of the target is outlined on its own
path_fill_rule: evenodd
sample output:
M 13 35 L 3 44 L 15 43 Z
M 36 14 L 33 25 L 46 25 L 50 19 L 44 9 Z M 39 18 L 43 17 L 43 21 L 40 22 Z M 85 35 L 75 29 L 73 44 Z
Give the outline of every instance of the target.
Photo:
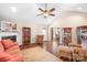
M 0 62 L 87 62 L 86 6 L 0 3 Z

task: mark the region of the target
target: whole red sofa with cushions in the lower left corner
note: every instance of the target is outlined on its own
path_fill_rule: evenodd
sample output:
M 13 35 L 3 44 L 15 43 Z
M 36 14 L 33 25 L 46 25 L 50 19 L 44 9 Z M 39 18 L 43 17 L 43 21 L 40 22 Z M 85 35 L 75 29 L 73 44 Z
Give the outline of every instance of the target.
M 18 43 L 11 40 L 0 41 L 0 62 L 23 62 Z

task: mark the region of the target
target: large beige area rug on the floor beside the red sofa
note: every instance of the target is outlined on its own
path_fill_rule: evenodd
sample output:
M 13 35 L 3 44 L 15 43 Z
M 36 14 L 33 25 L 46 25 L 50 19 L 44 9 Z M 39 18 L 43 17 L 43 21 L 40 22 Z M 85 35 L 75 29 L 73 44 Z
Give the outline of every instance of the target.
M 21 51 L 25 62 L 62 62 L 61 58 L 46 52 L 40 46 Z

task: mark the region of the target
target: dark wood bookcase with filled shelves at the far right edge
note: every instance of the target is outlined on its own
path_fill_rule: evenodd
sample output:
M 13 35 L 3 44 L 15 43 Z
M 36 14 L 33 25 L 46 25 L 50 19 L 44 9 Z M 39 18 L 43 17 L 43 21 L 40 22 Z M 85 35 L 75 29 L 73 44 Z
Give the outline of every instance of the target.
M 87 25 L 77 26 L 77 43 L 87 43 Z

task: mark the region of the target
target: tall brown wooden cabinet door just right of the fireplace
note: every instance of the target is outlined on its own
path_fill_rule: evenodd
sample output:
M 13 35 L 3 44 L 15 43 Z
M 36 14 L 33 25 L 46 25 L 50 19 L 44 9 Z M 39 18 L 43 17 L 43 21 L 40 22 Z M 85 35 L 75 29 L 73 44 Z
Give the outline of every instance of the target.
M 31 43 L 31 28 L 22 28 L 22 41 L 23 44 Z

